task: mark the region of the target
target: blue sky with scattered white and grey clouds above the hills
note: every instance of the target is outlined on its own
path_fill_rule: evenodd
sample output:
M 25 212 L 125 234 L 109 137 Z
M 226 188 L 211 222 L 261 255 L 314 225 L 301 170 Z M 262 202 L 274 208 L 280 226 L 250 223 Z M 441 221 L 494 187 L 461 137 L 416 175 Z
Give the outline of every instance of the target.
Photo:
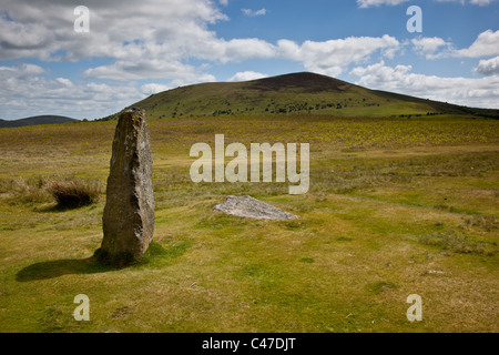
M 499 109 L 498 19 L 499 0 L 1 0 L 0 119 L 301 71 Z

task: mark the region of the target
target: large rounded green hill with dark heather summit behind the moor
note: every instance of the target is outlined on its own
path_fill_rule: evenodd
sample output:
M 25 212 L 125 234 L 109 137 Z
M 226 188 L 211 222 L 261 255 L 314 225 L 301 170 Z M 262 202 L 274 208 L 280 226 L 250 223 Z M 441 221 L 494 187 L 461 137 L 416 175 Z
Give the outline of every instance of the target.
M 150 118 L 306 113 L 357 118 L 455 114 L 499 119 L 499 110 L 369 90 L 309 72 L 182 87 L 153 94 L 132 105 L 145 109 Z M 118 113 L 102 120 L 116 116 Z

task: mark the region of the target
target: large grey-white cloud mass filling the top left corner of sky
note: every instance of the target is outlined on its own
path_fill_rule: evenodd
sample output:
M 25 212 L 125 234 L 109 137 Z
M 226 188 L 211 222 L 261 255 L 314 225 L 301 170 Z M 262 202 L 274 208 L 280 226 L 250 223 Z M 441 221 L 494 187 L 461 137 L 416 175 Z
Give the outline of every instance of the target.
M 132 0 L 89 0 L 85 6 L 90 9 L 90 32 L 75 33 L 73 7 L 64 1 L 33 7 L 29 0 L 3 0 L 0 60 L 78 61 L 103 57 L 138 62 L 138 65 L 147 60 L 175 65 L 191 55 L 197 43 L 210 45 L 208 42 L 216 40 L 206 28 L 226 19 L 206 0 L 169 0 L 167 4 L 144 0 L 140 7 Z M 118 63 L 110 71 L 125 65 Z M 103 74 L 103 70 L 100 68 L 94 73 Z M 157 68 L 157 72 L 162 70 Z

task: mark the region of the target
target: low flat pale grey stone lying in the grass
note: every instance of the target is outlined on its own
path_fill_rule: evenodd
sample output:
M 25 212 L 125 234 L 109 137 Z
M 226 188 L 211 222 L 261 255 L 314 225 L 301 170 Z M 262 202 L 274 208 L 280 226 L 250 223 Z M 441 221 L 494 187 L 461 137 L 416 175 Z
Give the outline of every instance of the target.
M 224 203 L 217 204 L 213 210 L 258 220 L 294 220 L 298 217 L 252 196 L 228 195 Z

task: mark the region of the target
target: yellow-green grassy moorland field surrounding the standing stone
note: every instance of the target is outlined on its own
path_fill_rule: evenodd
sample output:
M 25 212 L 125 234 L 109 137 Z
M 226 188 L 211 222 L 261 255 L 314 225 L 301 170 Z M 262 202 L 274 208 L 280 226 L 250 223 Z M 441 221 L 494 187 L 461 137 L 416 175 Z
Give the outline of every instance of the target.
M 0 332 L 499 332 L 499 121 L 326 115 L 150 120 L 154 243 L 102 241 L 115 122 L 0 130 Z M 310 190 L 191 182 L 196 142 L 310 144 Z M 228 159 L 226 160 L 226 162 Z M 101 186 L 55 207 L 47 181 Z M 293 221 L 213 212 L 249 194 Z M 90 298 L 77 322 L 73 298 Z M 422 298 L 410 323 L 406 298 Z

